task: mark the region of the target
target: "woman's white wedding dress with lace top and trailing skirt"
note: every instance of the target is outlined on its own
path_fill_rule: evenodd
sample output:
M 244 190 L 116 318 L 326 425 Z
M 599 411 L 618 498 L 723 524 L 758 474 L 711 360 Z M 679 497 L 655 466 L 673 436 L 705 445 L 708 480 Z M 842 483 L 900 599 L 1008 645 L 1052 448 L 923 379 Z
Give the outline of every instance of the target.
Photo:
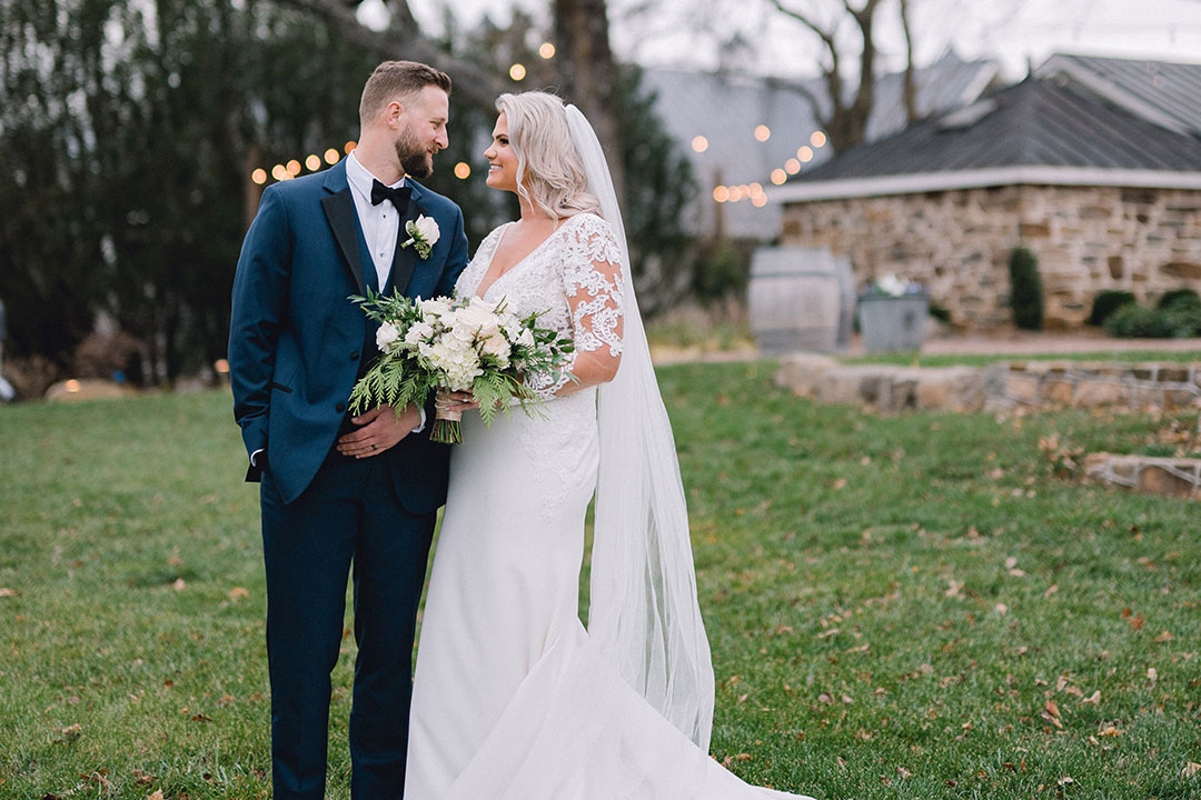
M 503 230 L 480 245 L 460 296 L 476 294 Z M 619 264 L 608 223 L 580 213 L 484 297 L 519 315 L 549 309 L 540 325 L 572 336 L 578 359 L 616 359 Z M 418 648 L 406 800 L 795 798 L 710 758 L 580 624 L 597 467 L 594 387 L 549 399 L 540 416 L 513 409 L 491 428 L 465 415 Z

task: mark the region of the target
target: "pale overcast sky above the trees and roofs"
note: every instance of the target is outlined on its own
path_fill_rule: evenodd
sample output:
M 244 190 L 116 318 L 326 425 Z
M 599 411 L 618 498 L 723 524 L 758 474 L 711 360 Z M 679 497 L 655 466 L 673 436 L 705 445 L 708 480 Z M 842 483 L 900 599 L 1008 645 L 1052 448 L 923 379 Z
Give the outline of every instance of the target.
M 381 19 L 378 0 L 360 18 Z M 504 23 L 513 7 L 545 17 L 549 0 L 453 0 L 462 24 L 485 13 Z M 791 0 L 820 14 L 833 0 Z M 896 1 L 891 1 L 896 7 Z M 1026 64 L 1056 52 L 1201 61 L 1201 0 L 910 0 L 919 64 L 948 47 L 963 58 L 992 56 L 1018 78 Z M 410 0 L 426 30 L 440 28 L 447 0 Z M 609 0 L 619 58 L 644 65 L 701 68 L 728 66 L 761 74 L 814 73 L 819 47 L 795 22 L 765 0 Z M 386 13 L 386 12 L 384 12 Z M 903 38 L 896 12 L 882 18 L 878 48 L 885 66 L 897 68 Z M 730 47 L 737 37 L 742 47 Z

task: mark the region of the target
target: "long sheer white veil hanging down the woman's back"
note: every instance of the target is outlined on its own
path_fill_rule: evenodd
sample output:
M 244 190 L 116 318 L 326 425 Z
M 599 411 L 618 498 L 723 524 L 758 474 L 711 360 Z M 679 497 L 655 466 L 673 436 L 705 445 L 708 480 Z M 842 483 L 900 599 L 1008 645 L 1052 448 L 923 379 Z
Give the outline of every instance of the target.
M 671 422 L 634 297 L 613 179 L 592 126 L 575 106 L 567 125 L 588 191 L 621 248 L 623 350 L 598 391 L 600 465 L 592 545 L 588 639 L 626 681 L 709 752 L 713 667 L 697 602 L 688 512 Z

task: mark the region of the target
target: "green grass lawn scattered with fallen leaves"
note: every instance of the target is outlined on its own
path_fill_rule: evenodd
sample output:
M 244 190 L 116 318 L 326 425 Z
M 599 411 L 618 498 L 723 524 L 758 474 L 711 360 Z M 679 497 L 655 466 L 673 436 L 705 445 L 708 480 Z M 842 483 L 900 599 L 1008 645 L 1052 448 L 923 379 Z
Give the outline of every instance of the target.
M 1039 449 L 1195 414 L 870 416 L 661 372 L 713 756 L 817 798 L 1201 798 L 1201 506 Z M 223 392 L 0 408 L 0 798 L 269 794 L 257 493 Z M 353 638 L 330 798 L 348 798 Z

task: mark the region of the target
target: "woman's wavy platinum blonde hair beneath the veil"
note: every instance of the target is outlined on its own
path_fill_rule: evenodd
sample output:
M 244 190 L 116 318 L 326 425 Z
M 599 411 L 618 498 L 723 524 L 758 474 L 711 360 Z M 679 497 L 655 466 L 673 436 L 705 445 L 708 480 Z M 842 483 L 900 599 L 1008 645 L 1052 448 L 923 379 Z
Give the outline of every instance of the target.
M 600 203 L 587 191 L 560 97 L 544 91 L 504 94 L 496 98 L 496 110 L 506 116 L 509 146 L 518 156 L 518 194 L 555 218 L 600 212 Z

